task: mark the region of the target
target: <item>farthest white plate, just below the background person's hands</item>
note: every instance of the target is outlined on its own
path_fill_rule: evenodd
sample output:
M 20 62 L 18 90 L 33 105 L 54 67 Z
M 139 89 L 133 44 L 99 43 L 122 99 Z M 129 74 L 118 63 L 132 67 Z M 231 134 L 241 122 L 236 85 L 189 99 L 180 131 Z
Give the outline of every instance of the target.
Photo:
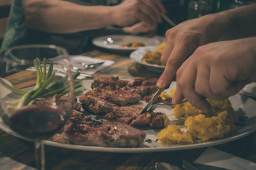
M 93 39 L 92 43 L 100 48 L 106 48 L 108 50 L 115 50 L 118 52 L 132 52 L 140 47 L 128 47 L 125 48 L 122 45 L 127 43 L 143 43 L 145 46 L 160 45 L 164 41 L 161 37 L 147 38 L 144 36 L 132 36 L 132 35 L 109 35 L 101 36 Z

